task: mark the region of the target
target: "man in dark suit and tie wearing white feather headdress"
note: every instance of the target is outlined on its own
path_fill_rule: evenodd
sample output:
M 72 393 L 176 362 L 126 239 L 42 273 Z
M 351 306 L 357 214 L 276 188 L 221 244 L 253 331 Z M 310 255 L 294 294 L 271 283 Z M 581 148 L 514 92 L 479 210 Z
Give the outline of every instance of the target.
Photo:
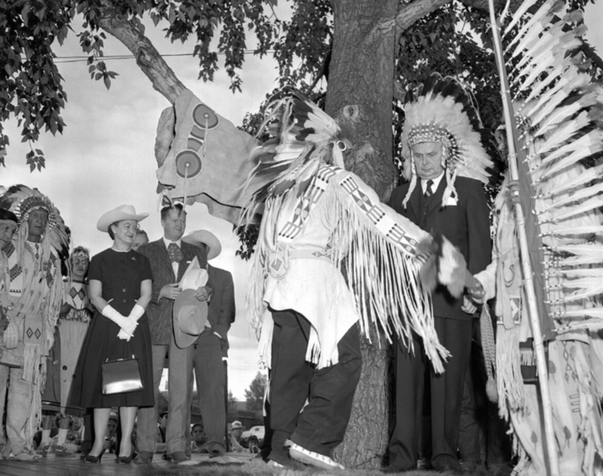
M 446 236 L 463 253 L 472 273 L 490 261 L 489 209 L 480 181 L 487 181 L 491 159 L 480 129 L 477 113 L 458 82 L 432 75 L 417 98 L 407 97 L 402 154 L 412 175 L 390 199 L 391 207 L 421 229 Z M 432 298 L 438 338 L 452 357 L 443 374 L 429 371 L 425 382 L 427 362 L 420 336 L 412 336 L 414 353 L 405 342 L 397 345 L 392 471 L 417 466 L 426 383 L 431 386 L 431 464 L 440 471 L 459 469 L 456 451 L 475 306 L 443 286 Z

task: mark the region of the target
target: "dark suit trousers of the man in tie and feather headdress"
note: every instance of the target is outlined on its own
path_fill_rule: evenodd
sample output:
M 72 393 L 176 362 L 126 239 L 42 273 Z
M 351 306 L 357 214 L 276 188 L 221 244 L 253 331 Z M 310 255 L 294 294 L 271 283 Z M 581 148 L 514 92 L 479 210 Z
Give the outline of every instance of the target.
M 435 330 L 452 357 L 444 373 L 428 372 L 431 388 L 432 465 L 458 468 L 458 431 L 463 400 L 463 383 L 471 349 L 471 321 L 435 317 Z M 423 345 L 413 336 L 414 354 L 397 343 L 396 419 L 390 440 L 390 466 L 400 471 L 417 466 L 418 442 L 425 391 L 425 368 L 429 365 Z

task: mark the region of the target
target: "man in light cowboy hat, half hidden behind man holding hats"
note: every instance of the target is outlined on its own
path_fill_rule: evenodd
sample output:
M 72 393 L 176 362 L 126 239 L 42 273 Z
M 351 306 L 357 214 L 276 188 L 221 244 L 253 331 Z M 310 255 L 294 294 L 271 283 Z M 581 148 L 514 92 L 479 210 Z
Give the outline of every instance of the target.
M 221 244 L 213 233 L 198 230 L 182 238 L 186 243 L 201 247 L 207 260 L 221 252 Z M 212 282 L 213 294 L 209 302 L 206 329 L 195 343 L 188 348 L 186 365 L 189 372 L 189 405 L 192 402 L 192 369 L 197 379 L 199 407 L 203 419 L 203 430 L 207 435 L 206 449 L 211 456 L 222 456 L 226 451 L 226 368 L 223 354 L 228 344 L 230 324 L 235 321 L 235 285 L 229 271 L 207 264 L 207 273 Z M 189 419 L 187 420 L 187 422 Z M 190 444 L 190 427 L 183 428 Z

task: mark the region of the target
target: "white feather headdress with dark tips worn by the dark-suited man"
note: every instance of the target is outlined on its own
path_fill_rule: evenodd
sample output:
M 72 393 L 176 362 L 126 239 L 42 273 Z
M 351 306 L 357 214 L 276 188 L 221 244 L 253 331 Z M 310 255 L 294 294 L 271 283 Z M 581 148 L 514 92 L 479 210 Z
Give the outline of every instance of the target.
M 411 183 L 403 206 L 417 184 L 411 147 L 421 142 L 442 144 L 442 167 L 447 180 L 442 203 L 448 203 L 449 197 L 456 197 L 454 183 L 457 176 L 487 184 L 493 162 L 484 147 L 485 131 L 470 94 L 458 81 L 432 74 L 416 97 L 412 90 L 408 91 L 404 115 L 402 158 L 405 170 L 410 170 L 406 178 Z

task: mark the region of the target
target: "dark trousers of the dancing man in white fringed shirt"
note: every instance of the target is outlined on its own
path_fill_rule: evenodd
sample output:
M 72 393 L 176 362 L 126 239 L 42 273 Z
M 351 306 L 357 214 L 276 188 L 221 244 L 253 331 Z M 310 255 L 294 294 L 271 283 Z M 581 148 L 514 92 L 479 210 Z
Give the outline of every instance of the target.
M 343 441 L 360 378 L 358 327 L 353 326 L 339 341 L 339 362 L 317 370 L 305 360 L 308 320 L 295 311 L 273 311 L 272 315 L 269 398 L 273 433 L 269 458 L 286 464 L 288 439 L 330 456 Z

